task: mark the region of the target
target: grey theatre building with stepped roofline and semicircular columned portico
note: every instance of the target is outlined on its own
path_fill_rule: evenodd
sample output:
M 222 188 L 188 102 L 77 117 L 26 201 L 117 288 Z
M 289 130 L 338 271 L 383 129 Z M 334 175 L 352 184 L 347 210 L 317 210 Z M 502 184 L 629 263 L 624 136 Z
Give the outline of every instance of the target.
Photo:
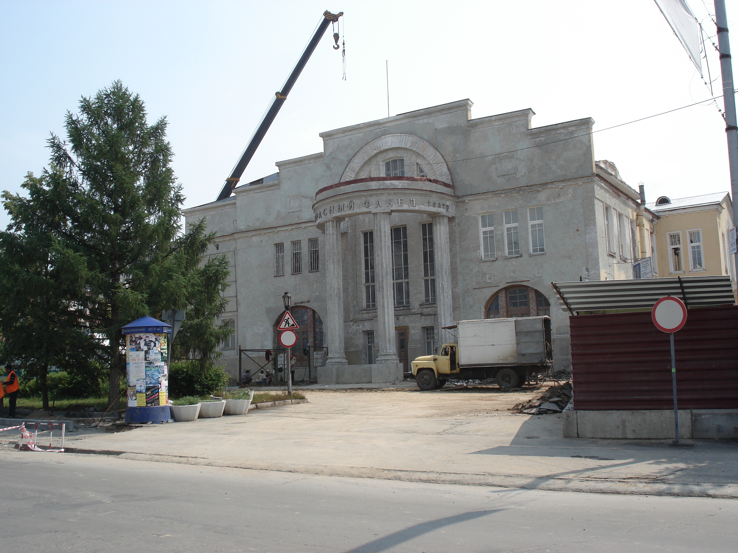
M 231 262 L 232 375 L 239 345 L 275 346 L 285 291 L 297 351 L 327 347 L 320 381 L 401 378 L 455 339 L 444 327 L 486 317 L 551 316 L 555 368 L 570 367 L 551 282 L 632 278 L 655 251 L 655 215 L 595 160 L 592 119 L 532 128 L 530 109 L 473 119 L 471 108 L 321 133 L 323 152 L 185 210 L 215 231 L 208 255 Z

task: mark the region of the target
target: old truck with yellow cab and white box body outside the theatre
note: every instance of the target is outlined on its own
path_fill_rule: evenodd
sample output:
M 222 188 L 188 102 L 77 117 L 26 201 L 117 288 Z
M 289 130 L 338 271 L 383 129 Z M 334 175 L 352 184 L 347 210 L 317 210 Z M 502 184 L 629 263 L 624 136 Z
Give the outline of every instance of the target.
M 553 364 L 548 316 L 458 321 L 455 327 L 444 328 L 455 328 L 457 341 L 413 361 L 413 376 L 421 390 L 441 388 L 449 379 L 491 378 L 500 388 L 517 388 Z

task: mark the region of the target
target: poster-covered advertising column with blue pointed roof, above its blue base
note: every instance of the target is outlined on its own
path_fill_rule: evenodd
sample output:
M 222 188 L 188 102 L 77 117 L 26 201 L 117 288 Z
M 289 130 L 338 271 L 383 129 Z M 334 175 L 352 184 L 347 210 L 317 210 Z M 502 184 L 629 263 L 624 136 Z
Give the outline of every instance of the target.
M 167 406 L 170 325 L 142 317 L 123 327 L 128 407 Z

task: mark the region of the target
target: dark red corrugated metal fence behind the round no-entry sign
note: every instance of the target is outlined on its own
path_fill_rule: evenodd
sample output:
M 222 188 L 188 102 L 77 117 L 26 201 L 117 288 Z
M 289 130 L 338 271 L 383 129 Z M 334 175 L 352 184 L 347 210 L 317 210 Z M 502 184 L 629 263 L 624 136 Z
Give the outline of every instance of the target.
M 669 334 L 650 311 L 569 321 L 575 409 L 674 408 Z M 674 341 L 678 407 L 738 408 L 738 306 L 689 309 Z

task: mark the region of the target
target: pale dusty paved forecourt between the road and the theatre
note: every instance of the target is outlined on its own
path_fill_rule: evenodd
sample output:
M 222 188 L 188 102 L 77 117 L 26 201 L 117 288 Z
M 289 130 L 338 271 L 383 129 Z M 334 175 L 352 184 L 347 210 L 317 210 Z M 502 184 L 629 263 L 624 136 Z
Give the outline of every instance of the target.
M 116 434 L 69 447 L 129 458 L 607 493 L 737 497 L 737 442 L 572 439 L 562 414 L 511 414 L 542 390 L 306 390 L 310 403 Z M 134 456 L 134 457 L 131 457 Z

